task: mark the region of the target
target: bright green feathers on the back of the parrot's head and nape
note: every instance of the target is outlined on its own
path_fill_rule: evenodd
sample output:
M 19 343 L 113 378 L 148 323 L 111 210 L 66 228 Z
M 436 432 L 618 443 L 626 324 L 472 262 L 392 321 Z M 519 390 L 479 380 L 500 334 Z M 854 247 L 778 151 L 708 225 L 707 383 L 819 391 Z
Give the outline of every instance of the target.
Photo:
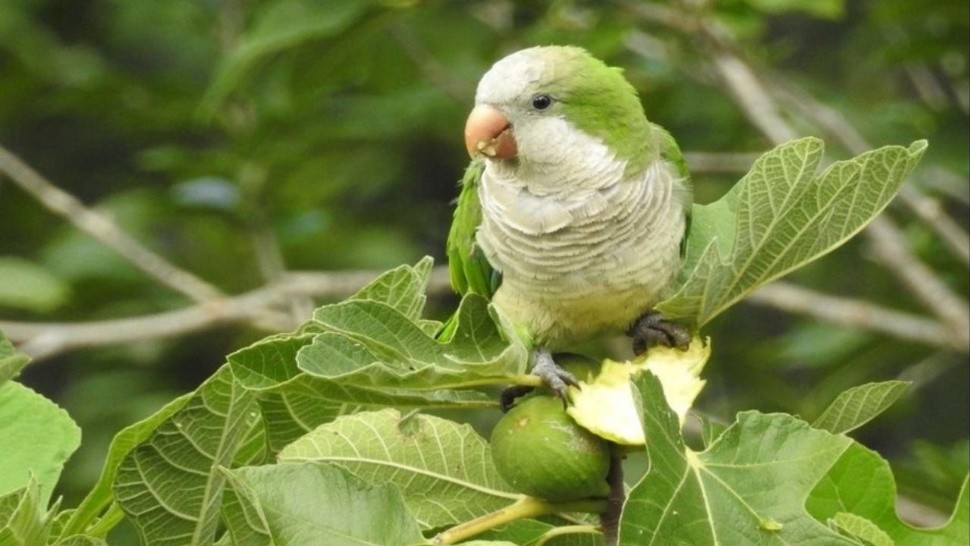
M 549 54 L 555 56 L 549 87 L 571 123 L 626 160 L 628 173 L 642 171 L 657 159 L 651 124 L 622 70 L 578 47 L 559 47 Z

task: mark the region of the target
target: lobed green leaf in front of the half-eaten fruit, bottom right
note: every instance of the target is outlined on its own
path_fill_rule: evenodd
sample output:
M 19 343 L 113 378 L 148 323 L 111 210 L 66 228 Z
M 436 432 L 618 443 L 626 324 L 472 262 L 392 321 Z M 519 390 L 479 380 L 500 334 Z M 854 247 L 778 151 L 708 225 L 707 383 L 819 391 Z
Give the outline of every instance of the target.
M 630 491 L 620 544 L 855 544 L 805 499 L 851 440 L 790 415 L 744 412 L 705 451 L 688 450 L 659 380 L 635 380 L 650 471 Z

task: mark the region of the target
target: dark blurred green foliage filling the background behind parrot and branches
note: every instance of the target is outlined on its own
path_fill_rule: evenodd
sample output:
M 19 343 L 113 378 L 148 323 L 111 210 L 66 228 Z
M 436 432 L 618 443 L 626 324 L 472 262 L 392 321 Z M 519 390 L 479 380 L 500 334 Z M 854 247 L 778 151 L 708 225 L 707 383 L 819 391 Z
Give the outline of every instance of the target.
M 966 229 L 965 0 L 4 0 L 0 144 L 227 294 L 285 270 L 376 272 L 426 254 L 443 263 L 475 84 L 521 47 L 578 44 L 622 66 L 648 117 L 689 153 L 697 199 L 730 187 L 753 157 L 744 154 L 772 144 L 691 33 L 700 19 L 872 146 L 928 139 L 910 183 Z M 800 134 L 821 134 L 804 112 L 782 110 Z M 833 158 L 849 155 L 826 141 Z M 965 301 L 967 264 L 909 210 L 890 214 Z M 93 321 L 192 304 L 2 177 L 0 234 L 3 320 Z M 926 313 L 865 241 L 793 280 Z M 430 303 L 440 317 L 456 300 L 438 293 Z M 240 321 L 28 367 L 22 380 L 84 431 L 65 474 L 68 502 L 96 478 L 118 429 L 266 333 Z M 952 503 L 968 458 L 965 350 L 748 304 L 707 333 L 716 350 L 700 405 L 725 419 L 751 408 L 811 419 L 847 387 L 913 381 L 859 437 L 893 461 L 912 498 Z

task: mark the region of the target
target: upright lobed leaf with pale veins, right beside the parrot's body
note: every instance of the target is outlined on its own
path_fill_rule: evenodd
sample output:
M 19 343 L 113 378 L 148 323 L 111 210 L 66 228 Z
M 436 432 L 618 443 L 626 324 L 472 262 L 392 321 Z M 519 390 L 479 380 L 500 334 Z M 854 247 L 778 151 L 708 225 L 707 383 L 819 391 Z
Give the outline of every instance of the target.
M 720 200 L 695 205 L 680 284 L 657 309 L 703 326 L 758 286 L 837 248 L 885 208 L 926 141 L 872 150 L 816 175 L 823 150 L 817 138 L 783 144 Z

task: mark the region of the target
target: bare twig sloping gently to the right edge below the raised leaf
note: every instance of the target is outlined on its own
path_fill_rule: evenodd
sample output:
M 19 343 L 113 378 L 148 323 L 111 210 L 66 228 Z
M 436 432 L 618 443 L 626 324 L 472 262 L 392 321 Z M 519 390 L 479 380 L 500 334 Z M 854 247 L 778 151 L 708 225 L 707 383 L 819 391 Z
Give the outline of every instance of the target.
M 970 352 L 970 345 L 966 340 L 954 338 L 937 321 L 863 300 L 824 294 L 783 281 L 761 287 L 744 301 L 808 315 L 842 326 L 889 334 L 899 339 Z

